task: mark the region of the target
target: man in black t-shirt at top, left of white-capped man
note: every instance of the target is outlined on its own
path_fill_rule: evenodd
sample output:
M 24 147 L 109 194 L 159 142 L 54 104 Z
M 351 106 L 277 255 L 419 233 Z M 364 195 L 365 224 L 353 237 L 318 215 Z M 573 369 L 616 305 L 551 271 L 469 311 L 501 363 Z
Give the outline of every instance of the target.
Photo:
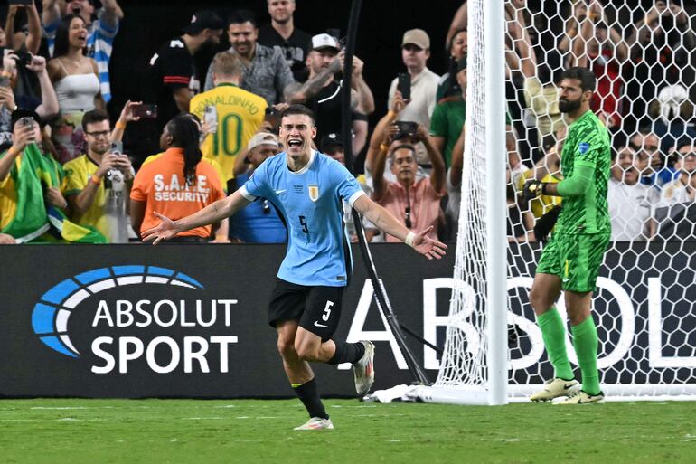
M 305 60 L 312 36 L 295 27 L 295 0 L 267 0 L 270 24 L 259 29 L 259 43 L 278 47 L 295 80 L 305 75 Z

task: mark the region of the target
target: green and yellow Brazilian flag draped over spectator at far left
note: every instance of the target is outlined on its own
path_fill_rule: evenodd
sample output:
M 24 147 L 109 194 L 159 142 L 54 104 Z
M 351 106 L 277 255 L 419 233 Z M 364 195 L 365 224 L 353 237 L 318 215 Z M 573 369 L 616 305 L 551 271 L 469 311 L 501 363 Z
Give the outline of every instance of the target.
M 17 243 L 107 243 L 96 229 L 72 223 L 60 209 L 45 202 L 44 189 L 60 189 L 64 176 L 62 166 L 51 156 L 44 156 L 36 144 L 24 148 L 0 189 L 0 194 L 14 195 L 14 211 L 9 212 L 12 217 L 0 232 L 12 235 Z

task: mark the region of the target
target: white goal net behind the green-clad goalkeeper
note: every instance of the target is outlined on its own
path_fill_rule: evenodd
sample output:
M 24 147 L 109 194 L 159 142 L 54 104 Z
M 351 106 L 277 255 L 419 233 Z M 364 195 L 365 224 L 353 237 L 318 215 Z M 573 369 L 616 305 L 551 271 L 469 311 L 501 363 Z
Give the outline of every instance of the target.
M 597 76 L 591 107 L 609 129 L 615 159 L 608 194 L 612 241 L 592 306 L 602 389 L 607 400 L 696 399 L 696 15 L 674 2 L 642 8 L 636 2 L 508 0 L 504 17 L 491 18 L 484 3 L 467 4 L 466 143 L 445 351 L 437 382 L 418 396 L 496 403 L 491 395 L 503 383 L 508 401 L 522 400 L 553 376 L 528 295 L 542 250 L 533 223 L 561 201 L 541 197 L 522 204 L 519 193 L 529 178 L 562 179 L 567 124 L 556 84 L 562 69 L 579 65 Z M 506 128 L 502 121 L 490 124 L 487 115 L 486 27 L 504 33 L 505 76 L 498 89 L 512 121 Z M 491 131 L 505 137 L 503 151 L 492 150 Z M 507 213 L 497 223 L 486 210 L 489 156 L 504 157 L 507 171 Z M 507 315 L 493 317 L 486 241 L 501 223 L 507 282 L 493 290 L 507 294 Z M 562 295 L 557 308 L 565 318 Z M 492 343 L 491 327 L 500 333 L 500 325 L 507 339 Z M 496 381 L 491 359 L 501 353 L 506 375 Z

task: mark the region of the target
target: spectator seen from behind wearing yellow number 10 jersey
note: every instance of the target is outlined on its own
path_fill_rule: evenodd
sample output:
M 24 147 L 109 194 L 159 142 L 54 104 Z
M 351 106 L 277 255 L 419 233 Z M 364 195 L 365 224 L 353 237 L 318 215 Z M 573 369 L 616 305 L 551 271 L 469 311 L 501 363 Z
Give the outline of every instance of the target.
M 234 177 L 235 158 L 244 156 L 245 147 L 266 115 L 266 100 L 239 88 L 241 61 L 238 55 L 220 52 L 212 60 L 212 81 L 215 88 L 191 100 L 191 112 L 205 121 L 206 108 L 213 107 L 216 130 L 205 137 L 203 156 L 216 160 L 227 183 Z

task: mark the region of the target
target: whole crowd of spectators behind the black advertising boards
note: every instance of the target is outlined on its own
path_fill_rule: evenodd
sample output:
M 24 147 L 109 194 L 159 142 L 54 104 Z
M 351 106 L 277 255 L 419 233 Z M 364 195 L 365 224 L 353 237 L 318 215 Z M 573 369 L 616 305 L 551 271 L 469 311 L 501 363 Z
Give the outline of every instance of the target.
M 118 0 L 38 3 L 9 5 L 0 31 L 0 243 L 139 241 L 155 211 L 178 219 L 202 209 L 283 151 L 277 115 L 289 104 L 314 111 L 316 149 L 345 162 L 344 43 L 331 30 L 299 29 L 294 13 L 302 5 L 295 0 L 266 0 L 269 24 L 245 10 L 228 17 L 196 12 L 152 56 L 142 70 L 142 101 L 128 101 L 118 118 L 106 112 L 109 60 L 127 21 Z M 535 241 L 535 219 L 560 204 L 560 197 L 541 196 L 528 207 L 519 192 L 531 178 L 560 180 L 567 127 L 555 80 L 567 66 L 597 76 L 592 109 L 615 150 L 608 191 L 613 239 L 693 236 L 693 16 L 673 0 L 644 11 L 599 0 L 558 4 L 557 14 L 531 11 L 526 0 L 505 5 L 509 241 Z M 447 69 L 428 69 L 430 50 L 442 44 L 409 29 L 399 32 L 403 68 L 393 70 L 389 89 L 371 89 L 362 74 L 370 63 L 358 56 L 350 89 L 351 149 L 364 155 L 364 166 L 353 167 L 364 173 L 363 189 L 410 230 L 432 225 L 433 238 L 446 241 L 456 240 L 466 195 L 460 191 L 466 25 L 463 2 L 447 33 Z M 199 80 L 195 55 L 223 36 L 230 48 Z M 388 96 L 386 112 L 375 108 L 373 91 Z M 124 150 L 124 132 L 134 126 L 140 137 Z M 200 145 L 184 142 L 192 138 Z M 345 222 L 356 240 L 349 208 Z M 369 240 L 392 241 L 363 225 Z M 184 243 L 286 238 L 264 199 L 180 237 Z

